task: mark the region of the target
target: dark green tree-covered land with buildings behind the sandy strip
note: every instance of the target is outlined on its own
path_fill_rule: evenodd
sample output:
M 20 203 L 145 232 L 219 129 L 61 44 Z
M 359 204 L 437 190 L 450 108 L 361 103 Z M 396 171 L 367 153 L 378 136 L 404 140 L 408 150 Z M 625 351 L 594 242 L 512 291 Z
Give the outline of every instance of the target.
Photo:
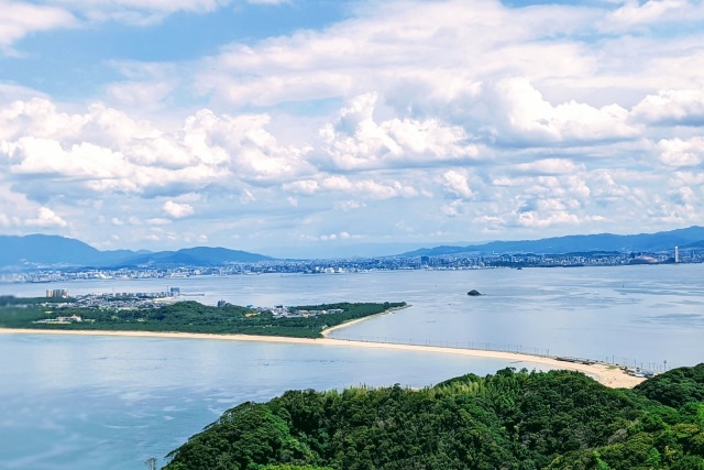
M 62 329 L 62 330 L 120 330 L 120 331 L 179 331 L 205 334 L 241 334 L 318 338 L 324 328 L 359 318 L 381 314 L 405 306 L 405 303 L 341 303 L 289 307 L 292 313 L 308 310 L 310 316 L 275 317 L 272 311 L 260 311 L 235 305 L 212 307 L 197 302 L 179 302 L 152 308 L 72 307 L 46 304 L 45 298 L 19 299 L 0 297 L 0 327 Z M 321 314 L 322 310 L 328 313 Z M 56 321 L 59 317 L 76 315 L 80 321 Z

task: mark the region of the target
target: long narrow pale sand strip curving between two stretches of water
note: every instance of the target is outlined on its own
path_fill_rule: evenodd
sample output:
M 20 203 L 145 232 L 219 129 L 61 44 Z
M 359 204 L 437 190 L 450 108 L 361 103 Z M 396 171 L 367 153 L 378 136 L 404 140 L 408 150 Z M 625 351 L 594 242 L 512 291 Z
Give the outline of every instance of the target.
M 344 326 L 350 326 L 344 324 Z M 342 327 L 339 326 L 339 327 Z M 338 328 L 339 328 L 338 327 Z M 328 330 L 329 332 L 330 330 Z M 514 367 L 520 369 L 520 364 L 516 362 L 529 362 L 548 365 L 552 369 L 563 369 L 583 372 L 602 384 L 613 389 L 630 389 L 644 381 L 644 379 L 630 376 L 620 369 L 606 364 L 578 364 L 571 362 L 558 361 L 552 358 L 540 356 L 521 354 L 517 352 L 485 351 L 479 349 L 461 349 L 461 348 L 441 348 L 435 346 L 420 345 L 396 345 L 386 342 L 366 342 L 355 340 L 341 340 L 332 338 L 289 338 L 276 336 L 254 336 L 254 335 L 210 335 L 210 334 L 190 334 L 190 332 L 152 332 L 152 331 L 99 331 L 99 330 L 50 330 L 50 329 L 20 329 L 20 328 L 0 328 L 0 335 L 76 335 L 76 336 L 122 336 L 122 337 L 153 337 L 153 338 L 187 338 L 187 339 L 218 339 L 229 341 L 264 341 L 264 342 L 283 342 L 292 345 L 316 345 L 321 347 L 343 346 L 351 348 L 374 348 L 388 349 L 399 351 L 431 352 L 441 354 L 458 354 L 474 358 L 501 359 L 512 362 Z M 471 371 L 468 371 L 471 372 Z

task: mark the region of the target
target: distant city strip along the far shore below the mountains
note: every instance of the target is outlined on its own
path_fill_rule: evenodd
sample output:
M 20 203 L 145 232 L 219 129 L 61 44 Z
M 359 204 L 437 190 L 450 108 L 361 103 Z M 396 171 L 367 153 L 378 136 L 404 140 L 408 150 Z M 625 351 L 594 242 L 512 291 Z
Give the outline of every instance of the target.
M 0 274 L 0 282 L 50 283 L 80 280 L 147 280 L 190 276 L 230 276 L 258 274 L 339 274 L 402 270 L 483 270 L 524 267 L 623 266 L 632 264 L 702 263 L 704 250 L 659 252 L 586 252 L 566 254 L 453 254 L 439 256 L 384 256 L 337 260 L 272 260 L 254 263 L 229 263 L 219 266 L 76 269 L 51 267 L 23 273 Z

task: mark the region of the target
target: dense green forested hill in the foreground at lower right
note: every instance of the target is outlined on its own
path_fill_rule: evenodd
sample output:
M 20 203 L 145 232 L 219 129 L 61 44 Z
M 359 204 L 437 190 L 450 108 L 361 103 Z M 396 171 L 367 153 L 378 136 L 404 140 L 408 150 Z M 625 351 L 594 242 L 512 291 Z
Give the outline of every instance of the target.
M 290 391 L 243 403 L 167 470 L 704 469 L 704 364 L 614 390 L 504 369 L 410 390 Z

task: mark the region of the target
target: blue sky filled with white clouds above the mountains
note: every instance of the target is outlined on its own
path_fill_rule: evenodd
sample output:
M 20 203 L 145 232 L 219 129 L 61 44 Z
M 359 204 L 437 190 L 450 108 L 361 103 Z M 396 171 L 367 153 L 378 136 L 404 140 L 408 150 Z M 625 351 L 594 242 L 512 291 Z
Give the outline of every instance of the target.
M 332 256 L 702 226 L 703 125 L 702 1 L 0 0 L 0 234 Z

